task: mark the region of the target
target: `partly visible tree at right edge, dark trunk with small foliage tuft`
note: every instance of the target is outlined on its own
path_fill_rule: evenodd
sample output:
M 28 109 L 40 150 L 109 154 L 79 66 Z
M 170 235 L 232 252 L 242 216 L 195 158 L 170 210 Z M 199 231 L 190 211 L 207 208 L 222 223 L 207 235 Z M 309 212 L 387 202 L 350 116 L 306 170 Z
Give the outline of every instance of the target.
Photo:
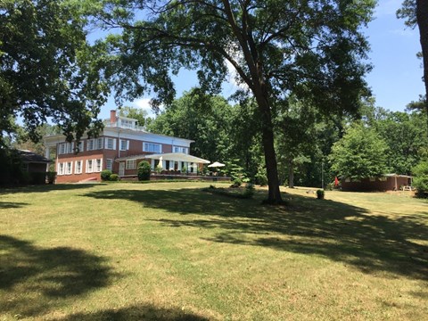
M 419 28 L 422 47 L 422 59 L 424 64 L 425 97 L 428 97 L 428 0 L 404 0 L 402 7 L 397 11 L 397 16 L 406 19 L 406 25 Z M 428 116 L 428 100 L 425 99 L 425 111 Z M 428 117 L 427 117 L 428 132 Z

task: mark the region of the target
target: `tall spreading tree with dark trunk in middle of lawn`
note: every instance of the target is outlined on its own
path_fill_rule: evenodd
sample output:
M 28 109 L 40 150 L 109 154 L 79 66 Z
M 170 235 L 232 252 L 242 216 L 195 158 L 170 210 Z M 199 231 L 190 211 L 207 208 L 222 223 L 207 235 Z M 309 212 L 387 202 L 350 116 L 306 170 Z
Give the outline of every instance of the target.
M 368 69 L 360 27 L 373 8 L 373 0 L 103 1 L 105 28 L 122 29 L 108 37 L 107 75 L 118 97 L 152 89 L 156 106 L 172 101 L 180 68 L 198 70 L 202 89 L 218 93 L 227 62 L 257 103 L 268 202 L 279 203 L 276 107 L 294 92 L 330 113 L 358 108 Z

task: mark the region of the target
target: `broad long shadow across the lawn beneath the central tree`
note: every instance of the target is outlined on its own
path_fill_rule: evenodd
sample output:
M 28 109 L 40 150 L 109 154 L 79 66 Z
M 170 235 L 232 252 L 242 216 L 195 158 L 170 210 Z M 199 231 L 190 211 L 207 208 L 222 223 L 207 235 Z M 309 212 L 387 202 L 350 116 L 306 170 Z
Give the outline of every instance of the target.
M 182 215 L 156 219 L 166 226 L 222 229 L 217 235 L 202 236 L 212 242 L 320 255 L 365 273 L 428 279 L 424 215 L 377 215 L 342 202 L 290 194 L 284 195 L 290 203 L 285 207 L 261 206 L 261 194 L 255 200 L 238 200 L 201 189 L 109 190 L 86 196 L 138 202 L 141 215 L 144 208 Z

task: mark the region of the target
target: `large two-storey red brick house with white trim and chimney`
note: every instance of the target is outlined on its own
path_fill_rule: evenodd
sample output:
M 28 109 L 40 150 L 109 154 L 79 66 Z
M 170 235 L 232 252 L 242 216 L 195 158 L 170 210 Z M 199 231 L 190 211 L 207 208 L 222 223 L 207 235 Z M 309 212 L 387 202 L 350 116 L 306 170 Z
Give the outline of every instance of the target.
M 78 144 L 68 143 L 65 136 L 46 136 L 46 158 L 56 150 L 57 183 L 100 180 L 103 169 L 110 169 L 119 177 L 136 176 L 139 161 L 149 161 L 152 169 L 195 174 L 202 160 L 189 154 L 192 140 L 152 134 L 136 125 L 136 119 L 117 116 L 111 111 L 104 121 L 102 133 L 95 138 L 83 136 Z

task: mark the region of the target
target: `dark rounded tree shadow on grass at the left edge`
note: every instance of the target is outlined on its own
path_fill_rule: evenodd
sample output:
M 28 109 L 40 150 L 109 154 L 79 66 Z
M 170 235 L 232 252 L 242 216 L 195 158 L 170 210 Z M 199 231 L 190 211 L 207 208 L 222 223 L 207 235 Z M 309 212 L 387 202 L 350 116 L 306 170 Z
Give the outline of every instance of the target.
M 111 283 L 106 259 L 69 247 L 42 249 L 0 235 L 0 311 L 42 315 L 60 299 L 84 295 Z M 116 275 L 117 276 L 117 275 Z

